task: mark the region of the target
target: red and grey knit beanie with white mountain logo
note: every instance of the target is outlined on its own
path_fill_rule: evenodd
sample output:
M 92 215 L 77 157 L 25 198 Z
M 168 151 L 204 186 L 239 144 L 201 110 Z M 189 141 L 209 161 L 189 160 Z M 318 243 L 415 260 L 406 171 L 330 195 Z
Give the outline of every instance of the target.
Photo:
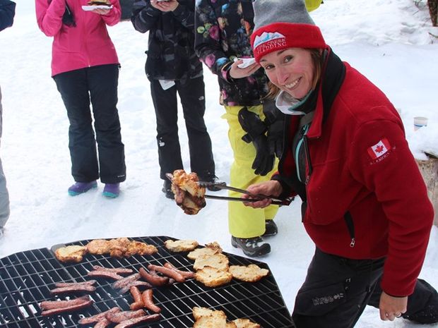
M 254 1 L 251 46 L 257 62 L 287 48 L 326 48 L 321 30 L 307 13 L 304 0 Z

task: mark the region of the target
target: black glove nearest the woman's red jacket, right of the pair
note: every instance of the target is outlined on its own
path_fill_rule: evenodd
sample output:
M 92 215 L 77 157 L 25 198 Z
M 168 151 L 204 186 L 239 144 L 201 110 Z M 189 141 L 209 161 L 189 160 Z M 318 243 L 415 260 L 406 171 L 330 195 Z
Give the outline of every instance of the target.
M 263 104 L 265 114 L 265 125 L 268 126 L 268 147 L 269 152 L 280 158 L 283 152 L 283 129 L 285 114 L 279 111 L 271 100 Z

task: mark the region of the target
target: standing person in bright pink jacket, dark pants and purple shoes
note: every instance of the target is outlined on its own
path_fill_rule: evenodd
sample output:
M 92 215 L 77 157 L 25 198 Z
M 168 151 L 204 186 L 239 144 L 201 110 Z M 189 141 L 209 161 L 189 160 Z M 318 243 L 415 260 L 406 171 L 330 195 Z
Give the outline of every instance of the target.
M 85 10 L 87 0 L 35 0 L 38 26 L 53 37 L 52 78 L 70 122 L 72 196 L 96 188 L 100 178 L 103 195 L 117 198 L 126 179 L 117 111 L 120 65 L 107 32 L 107 25 L 119 23 L 121 8 L 118 0 L 109 1 L 111 6 Z

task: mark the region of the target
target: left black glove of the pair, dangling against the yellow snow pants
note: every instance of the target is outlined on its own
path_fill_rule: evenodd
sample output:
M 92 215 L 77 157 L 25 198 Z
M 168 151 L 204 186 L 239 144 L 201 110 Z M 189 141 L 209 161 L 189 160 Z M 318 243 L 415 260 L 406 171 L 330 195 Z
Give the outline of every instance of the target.
M 244 142 L 252 142 L 256 148 L 256 158 L 252 163 L 252 169 L 255 174 L 266 176 L 273 169 L 274 154 L 268 147 L 268 138 L 266 137 L 266 125 L 261 121 L 259 115 L 249 111 L 246 107 L 239 111 L 239 123 L 243 130 L 247 132 L 242 137 Z

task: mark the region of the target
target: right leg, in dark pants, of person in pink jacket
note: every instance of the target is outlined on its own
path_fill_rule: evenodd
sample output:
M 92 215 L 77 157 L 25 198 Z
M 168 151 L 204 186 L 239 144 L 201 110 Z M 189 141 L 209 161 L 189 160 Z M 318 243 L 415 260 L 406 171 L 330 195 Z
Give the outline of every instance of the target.
M 120 183 L 126 180 L 126 166 L 117 111 L 119 66 L 90 67 L 87 80 L 95 119 L 100 180 L 102 183 Z

